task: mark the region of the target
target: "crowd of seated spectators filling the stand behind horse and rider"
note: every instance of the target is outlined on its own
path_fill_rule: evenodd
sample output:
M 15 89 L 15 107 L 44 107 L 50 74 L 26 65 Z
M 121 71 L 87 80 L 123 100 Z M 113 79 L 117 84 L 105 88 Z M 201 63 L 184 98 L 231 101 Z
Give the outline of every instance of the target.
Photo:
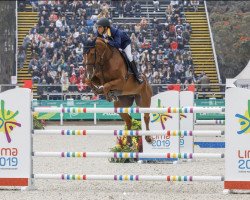
M 70 77 L 74 73 L 77 84 L 81 80 L 84 84 L 85 70 L 82 66 L 78 67 L 83 63 L 82 44 L 85 44 L 87 40 L 93 40 L 94 23 L 98 17 L 111 17 L 112 20 L 109 5 L 106 2 L 97 0 L 86 2 L 80 0 L 38 1 L 38 25 L 34 25 L 30 34 L 25 37 L 23 47 L 25 52 L 30 45 L 32 52 L 39 58 L 37 59 L 37 69 L 40 73 L 39 82 L 47 80 L 48 73 L 52 78 L 51 84 L 66 79 L 65 74 L 67 73 L 71 74 Z M 126 2 L 124 7 L 122 7 L 123 2 Z M 115 4 L 117 5 L 115 6 L 117 9 L 113 9 L 113 15 L 120 14 L 121 16 L 124 12 L 123 9 L 127 6 L 129 10 L 127 16 L 140 17 L 140 1 L 134 2 L 112 1 L 112 8 Z M 153 1 L 156 12 L 159 10 L 157 2 L 159 1 Z M 181 82 L 196 81 L 192 56 L 187 50 L 192 27 L 189 22 L 184 23 L 185 16 L 182 15 L 183 6 L 187 4 L 188 1 L 183 0 L 171 1 L 165 11 L 165 21 L 154 18 L 149 24 L 143 17 L 141 22 L 134 26 L 132 23 L 123 24 L 117 21 L 113 23 L 114 26 L 129 34 L 132 56 L 134 60 L 140 61 L 138 68 L 147 74 L 151 83 L 174 83 L 178 78 Z M 118 6 L 122 8 L 120 11 Z M 153 26 L 151 26 L 152 24 Z M 153 28 L 153 31 L 149 31 L 149 27 Z M 22 50 L 19 51 L 22 52 Z M 18 63 L 22 63 L 22 60 L 20 56 Z M 181 73 L 176 72 L 178 68 L 182 69 Z M 35 70 L 37 69 L 35 68 Z M 31 70 L 35 77 L 34 80 L 38 81 L 37 71 L 32 68 Z M 153 70 L 158 74 L 153 76 Z M 62 78 L 63 76 L 65 77 Z M 154 80 L 155 78 L 156 80 Z M 69 80 L 71 79 L 68 78 L 68 82 Z M 69 88 L 69 90 L 71 89 Z M 68 88 L 65 86 L 64 91 L 67 90 Z

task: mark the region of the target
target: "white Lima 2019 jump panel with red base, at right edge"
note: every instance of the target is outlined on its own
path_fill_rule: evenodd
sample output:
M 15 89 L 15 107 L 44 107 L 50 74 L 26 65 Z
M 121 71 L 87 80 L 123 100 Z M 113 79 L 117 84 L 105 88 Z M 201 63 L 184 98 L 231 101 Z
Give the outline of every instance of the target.
M 249 190 L 250 90 L 227 89 L 225 131 L 225 189 Z

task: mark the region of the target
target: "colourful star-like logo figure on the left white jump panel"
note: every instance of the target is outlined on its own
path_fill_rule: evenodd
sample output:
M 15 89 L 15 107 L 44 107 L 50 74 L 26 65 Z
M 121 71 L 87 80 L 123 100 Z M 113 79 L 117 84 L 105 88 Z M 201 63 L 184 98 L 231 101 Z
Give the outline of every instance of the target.
M 5 109 L 5 102 L 1 100 L 0 102 L 0 133 L 6 135 L 8 143 L 11 143 L 10 133 L 14 130 L 15 127 L 21 127 L 21 124 L 18 123 L 15 117 L 19 114 L 18 111 L 13 112 L 11 110 Z

